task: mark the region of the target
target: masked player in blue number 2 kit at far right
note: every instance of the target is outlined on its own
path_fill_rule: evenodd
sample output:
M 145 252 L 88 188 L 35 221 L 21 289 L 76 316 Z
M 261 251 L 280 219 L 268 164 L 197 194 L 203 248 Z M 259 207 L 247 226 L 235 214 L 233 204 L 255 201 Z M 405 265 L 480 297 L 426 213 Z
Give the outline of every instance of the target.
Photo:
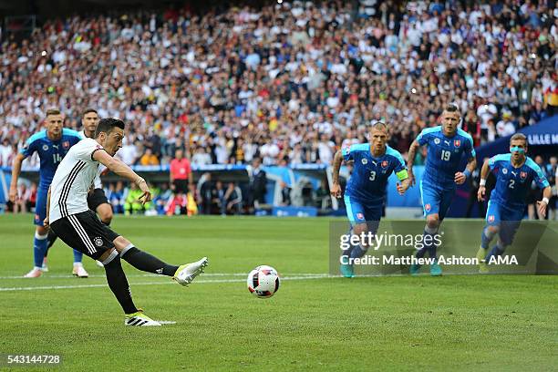
M 532 181 L 543 189 L 542 200 L 537 207 L 542 216 L 546 215 L 546 207 L 552 196 L 550 183 L 541 168 L 531 158 L 525 156 L 527 152 L 527 138 L 522 133 L 516 133 L 510 139 L 509 154 L 492 157 L 482 165 L 480 170 L 480 187 L 478 197 L 484 201 L 486 192 L 486 178 L 492 171 L 496 176 L 496 186 L 491 193 L 491 199 L 486 212 L 486 226 L 482 230 L 477 259 L 480 272 L 488 272 L 487 263 L 492 256 L 504 253 L 506 246 L 513 242 L 513 237 L 519 228 L 525 214 L 527 193 L 531 190 Z M 489 244 L 498 234 L 498 242 L 489 252 Z

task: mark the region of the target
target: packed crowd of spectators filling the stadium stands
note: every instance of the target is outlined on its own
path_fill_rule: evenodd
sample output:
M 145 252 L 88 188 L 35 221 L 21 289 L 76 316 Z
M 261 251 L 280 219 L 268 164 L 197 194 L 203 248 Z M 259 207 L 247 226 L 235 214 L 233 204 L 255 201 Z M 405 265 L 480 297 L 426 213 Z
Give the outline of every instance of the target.
M 177 148 L 195 165 L 329 163 L 379 119 L 406 152 L 449 101 L 478 145 L 555 112 L 557 12 L 368 0 L 48 21 L 2 44 L 1 165 L 51 107 L 75 129 L 86 107 L 126 119 L 129 164 Z

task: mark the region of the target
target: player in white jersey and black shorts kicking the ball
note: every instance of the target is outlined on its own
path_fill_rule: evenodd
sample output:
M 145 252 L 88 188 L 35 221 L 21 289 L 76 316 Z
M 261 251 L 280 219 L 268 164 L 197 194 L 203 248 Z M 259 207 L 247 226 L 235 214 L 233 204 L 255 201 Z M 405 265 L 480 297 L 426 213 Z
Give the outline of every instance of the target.
M 128 165 L 114 159 L 114 155 L 122 146 L 123 138 L 122 120 L 100 119 L 95 131 L 95 140 L 81 140 L 67 152 L 48 190 L 49 209 L 45 227 L 50 225 L 64 243 L 76 247 L 104 264 L 110 290 L 124 310 L 125 325 L 160 325 L 134 305 L 120 258 L 139 270 L 171 276 L 182 285 L 190 284 L 197 275 L 201 274 L 208 260 L 203 257 L 200 261 L 181 266 L 163 263 L 150 253 L 140 251 L 127 239 L 110 230 L 107 225 L 99 221 L 95 212 L 89 210 L 88 191 L 97 176 L 99 163 L 119 176 L 136 183 L 143 192 L 140 202 L 151 200 L 147 182 Z

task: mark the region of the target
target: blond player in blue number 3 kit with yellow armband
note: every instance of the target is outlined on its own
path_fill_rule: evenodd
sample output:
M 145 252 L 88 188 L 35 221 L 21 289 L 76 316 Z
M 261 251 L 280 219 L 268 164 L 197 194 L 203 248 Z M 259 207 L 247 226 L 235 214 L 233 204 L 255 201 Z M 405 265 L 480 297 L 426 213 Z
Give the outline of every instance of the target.
M 405 161 L 398 150 L 387 146 L 387 125 L 377 122 L 370 130 L 370 143 L 352 145 L 336 152 L 333 165 L 333 187 L 331 194 L 341 197 L 339 169 L 341 163 L 354 161 L 353 173 L 346 184 L 346 215 L 351 223 L 352 233 L 377 233 L 386 201 L 386 186 L 389 175 L 394 172 L 399 181 L 398 192 L 403 195 L 409 186 Z M 353 261 L 367 253 L 367 243 L 362 242 L 346 250 L 341 256 L 341 274 L 354 276 Z

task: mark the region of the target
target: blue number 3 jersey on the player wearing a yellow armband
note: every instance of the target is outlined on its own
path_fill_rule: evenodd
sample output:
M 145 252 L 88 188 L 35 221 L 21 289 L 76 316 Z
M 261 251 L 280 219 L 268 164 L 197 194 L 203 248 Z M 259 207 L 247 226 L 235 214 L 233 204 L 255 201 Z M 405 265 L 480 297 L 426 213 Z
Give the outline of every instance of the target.
M 352 145 L 343 149 L 343 159 L 355 161 L 345 194 L 365 203 L 382 205 L 391 172 L 406 170 L 401 154 L 389 146 L 383 156 L 374 158 L 369 143 Z

